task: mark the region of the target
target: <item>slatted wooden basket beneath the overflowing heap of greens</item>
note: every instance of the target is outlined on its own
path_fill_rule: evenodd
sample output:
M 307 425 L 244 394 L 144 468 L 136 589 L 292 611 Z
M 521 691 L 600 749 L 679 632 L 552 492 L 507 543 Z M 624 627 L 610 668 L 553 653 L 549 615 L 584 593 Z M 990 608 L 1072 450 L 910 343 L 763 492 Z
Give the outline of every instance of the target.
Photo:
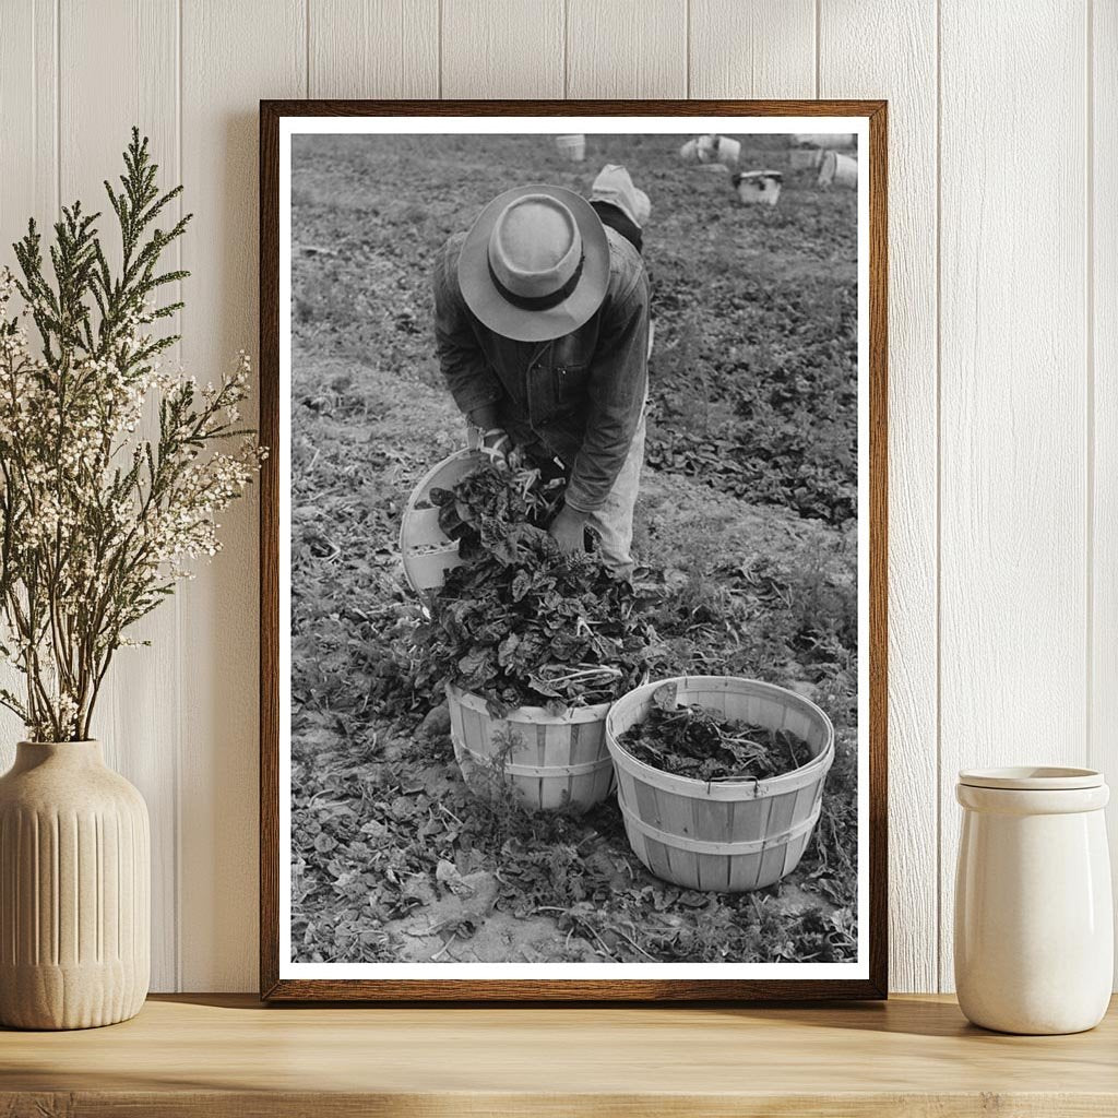
M 519 707 L 493 718 L 485 700 L 446 689 L 454 756 L 470 788 L 483 798 L 502 785 L 529 811 L 585 812 L 613 786 L 606 749 L 609 703 L 571 708 L 562 718 L 542 707 Z

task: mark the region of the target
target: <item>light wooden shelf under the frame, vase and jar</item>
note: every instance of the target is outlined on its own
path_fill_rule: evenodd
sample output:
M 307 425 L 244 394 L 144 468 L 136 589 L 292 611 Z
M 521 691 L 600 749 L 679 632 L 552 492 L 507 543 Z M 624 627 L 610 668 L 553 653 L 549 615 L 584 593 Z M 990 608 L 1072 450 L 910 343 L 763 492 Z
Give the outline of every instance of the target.
M 1003 1036 L 929 996 L 364 1008 L 176 995 L 110 1029 L 0 1030 L 0 1116 L 1077 1118 L 1118 1114 L 1116 1052 L 1118 1010 L 1076 1036 Z

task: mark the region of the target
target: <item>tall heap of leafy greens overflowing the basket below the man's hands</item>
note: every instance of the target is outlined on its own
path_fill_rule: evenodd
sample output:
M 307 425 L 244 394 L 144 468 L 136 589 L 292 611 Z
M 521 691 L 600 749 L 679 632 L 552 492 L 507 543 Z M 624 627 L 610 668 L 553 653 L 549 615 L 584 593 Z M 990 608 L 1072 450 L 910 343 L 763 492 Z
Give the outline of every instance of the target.
M 548 534 L 561 480 L 486 464 L 430 498 L 463 562 L 428 595 L 415 634 L 420 683 L 453 683 L 499 718 L 517 707 L 558 714 L 609 702 L 660 666 L 663 647 L 628 580 L 593 539 L 563 555 Z

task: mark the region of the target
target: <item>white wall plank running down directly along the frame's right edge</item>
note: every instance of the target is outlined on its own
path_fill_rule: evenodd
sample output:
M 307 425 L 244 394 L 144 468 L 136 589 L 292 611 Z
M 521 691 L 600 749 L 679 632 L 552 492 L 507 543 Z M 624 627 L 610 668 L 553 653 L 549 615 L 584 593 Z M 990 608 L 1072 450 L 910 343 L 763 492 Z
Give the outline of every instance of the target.
M 889 774 L 889 934 L 898 988 L 919 991 L 938 988 L 940 951 L 936 32 L 935 7 L 910 0 L 827 2 L 819 20 L 819 96 L 889 98 L 889 707 L 902 758 Z

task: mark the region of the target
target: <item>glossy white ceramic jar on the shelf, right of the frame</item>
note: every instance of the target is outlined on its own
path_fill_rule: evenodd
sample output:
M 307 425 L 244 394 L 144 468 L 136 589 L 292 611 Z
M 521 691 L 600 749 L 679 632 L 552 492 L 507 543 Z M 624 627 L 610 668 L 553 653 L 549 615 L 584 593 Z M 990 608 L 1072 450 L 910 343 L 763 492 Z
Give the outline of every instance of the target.
M 1102 1020 L 1114 975 L 1102 775 L 959 774 L 955 985 L 976 1025 L 1076 1033 Z

